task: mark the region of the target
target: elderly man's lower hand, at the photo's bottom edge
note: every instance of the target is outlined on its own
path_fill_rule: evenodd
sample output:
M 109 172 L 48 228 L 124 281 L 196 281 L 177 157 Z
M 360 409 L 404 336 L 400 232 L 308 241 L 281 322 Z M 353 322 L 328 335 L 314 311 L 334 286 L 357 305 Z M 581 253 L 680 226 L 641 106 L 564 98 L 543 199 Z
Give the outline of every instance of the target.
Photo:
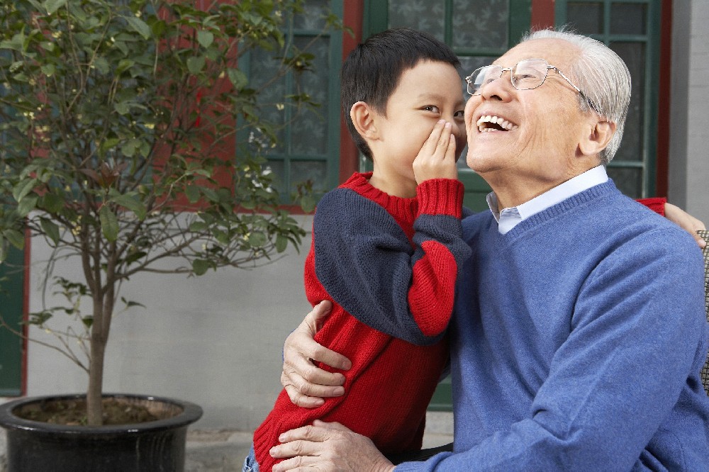
M 362 434 L 340 423 L 315 420 L 313 426 L 291 429 L 279 436 L 281 444 L 271 449 L 271 456 L 287 461 L 277 463 L 280 471 L 393 471 L 394 466 Z

